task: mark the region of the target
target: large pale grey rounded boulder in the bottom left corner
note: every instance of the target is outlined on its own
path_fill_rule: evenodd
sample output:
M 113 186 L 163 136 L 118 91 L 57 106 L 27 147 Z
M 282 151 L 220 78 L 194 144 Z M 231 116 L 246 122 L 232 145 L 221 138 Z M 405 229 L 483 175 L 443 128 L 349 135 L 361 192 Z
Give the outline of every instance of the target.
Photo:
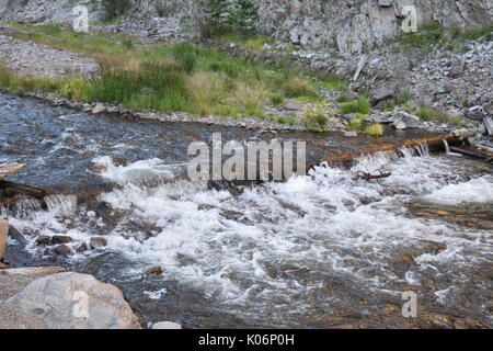
M 87 274 L 39 278 L 5 305 L 41 318 L 53 329 L 140 329 L 122 292 Z

